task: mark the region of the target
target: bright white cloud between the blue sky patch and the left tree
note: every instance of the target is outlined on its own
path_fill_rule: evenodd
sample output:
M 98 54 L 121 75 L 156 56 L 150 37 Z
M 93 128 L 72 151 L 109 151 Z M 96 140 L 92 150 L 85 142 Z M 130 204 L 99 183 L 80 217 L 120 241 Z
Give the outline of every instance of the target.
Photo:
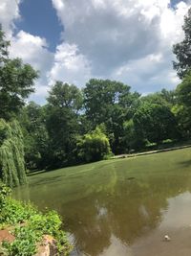
M 20 31 L 11 38 L 10 56 L 22 58 L 39 71 L 40 78 L 35 82 L 31 99 L 43 103 L 48 94 L 48 72 L 53 66 L 53 53 L 48 50 L 46 39 Z

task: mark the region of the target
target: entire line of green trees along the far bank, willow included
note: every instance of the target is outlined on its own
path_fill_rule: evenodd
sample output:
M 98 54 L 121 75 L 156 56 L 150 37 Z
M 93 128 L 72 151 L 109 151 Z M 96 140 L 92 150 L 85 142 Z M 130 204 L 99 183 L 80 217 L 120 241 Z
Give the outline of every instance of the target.
M 140 151 L 191 134 L 191 10 L 174 45 L 175 90 L 140 95 L 120 81 L 91 79 L 84 88 L 56 81 L 45 105 L 26 103 L 39 77 L 9 57 L 0 29 L 0 177 L 25 182 L 25 170 L 49 170 Z

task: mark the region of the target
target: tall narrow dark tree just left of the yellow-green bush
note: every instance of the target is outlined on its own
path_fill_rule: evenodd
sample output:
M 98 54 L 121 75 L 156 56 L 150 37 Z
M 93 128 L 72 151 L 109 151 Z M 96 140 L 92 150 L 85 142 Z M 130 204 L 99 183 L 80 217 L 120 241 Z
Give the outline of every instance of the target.
M 47 99 L 46 126 L 50 137 L 50 166 L 74 164 L 76 135 L 79 132 L 78 111 L 82 105 L 80 90 L 74 85 L 56 81 Z

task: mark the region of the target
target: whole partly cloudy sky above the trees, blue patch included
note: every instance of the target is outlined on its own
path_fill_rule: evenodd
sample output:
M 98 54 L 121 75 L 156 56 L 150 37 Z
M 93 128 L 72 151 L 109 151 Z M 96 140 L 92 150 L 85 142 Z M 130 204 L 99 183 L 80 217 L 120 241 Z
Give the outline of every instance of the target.
M 172 46 L 191 1 L 0 0 L 11 58 L 39 70 L 30 100 L 44 104 L 55 81 L 84 87 L 122 81 L 146 95 L 179 84 Z

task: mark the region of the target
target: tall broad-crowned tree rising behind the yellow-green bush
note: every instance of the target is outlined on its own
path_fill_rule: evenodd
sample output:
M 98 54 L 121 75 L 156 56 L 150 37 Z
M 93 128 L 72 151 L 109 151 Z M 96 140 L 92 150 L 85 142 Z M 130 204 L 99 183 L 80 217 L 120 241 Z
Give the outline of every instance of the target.
M 125 151 L 123 123 L 133 117 L 139 94 L 131 93 L 130 86 L 122 82 L 96 79 L 87 82 L 83 92 L 85 113 L 92 129 L 105 124 L 112 151 Z

